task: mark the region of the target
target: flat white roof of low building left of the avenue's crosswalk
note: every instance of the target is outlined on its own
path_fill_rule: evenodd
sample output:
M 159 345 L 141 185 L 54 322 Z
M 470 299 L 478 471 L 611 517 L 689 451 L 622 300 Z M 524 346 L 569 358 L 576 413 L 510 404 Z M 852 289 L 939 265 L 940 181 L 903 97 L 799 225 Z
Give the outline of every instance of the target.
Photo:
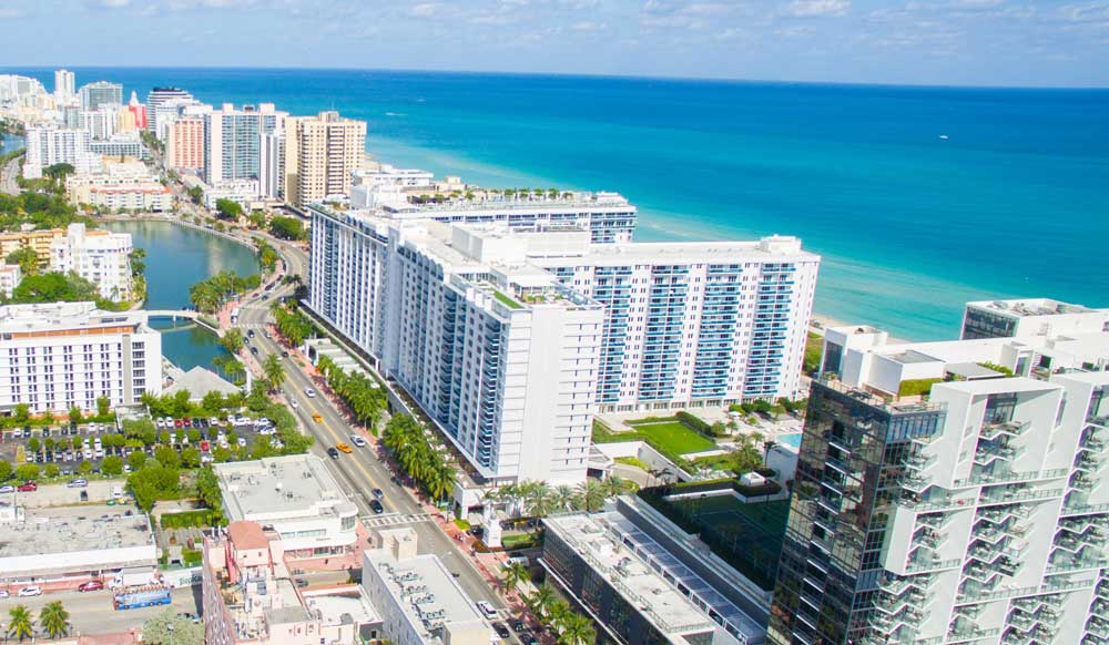
M 214 470 L 232 521 L 264 524 L 266 520 L 332 514 L 337 504 L 352 503 L 324 461 L 313 454 L 217 463 Z

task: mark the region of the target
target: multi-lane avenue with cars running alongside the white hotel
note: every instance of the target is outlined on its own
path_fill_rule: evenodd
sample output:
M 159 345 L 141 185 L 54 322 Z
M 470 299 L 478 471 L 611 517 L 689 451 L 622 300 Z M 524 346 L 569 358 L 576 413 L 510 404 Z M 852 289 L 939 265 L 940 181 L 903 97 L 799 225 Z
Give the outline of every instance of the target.
M 295 246 L 268 239 L 285 257 L 289 273 L 306 278 L 308 260 L 304 252 Z M 292 289 L 288 286 L 283 286 L 275 289 L 272 297 L 291 294 Z M 237 326 L 244 328 L 244 334 L 246 329 L 257 330 L 252 342 L 254 347 L 258 348 L 256 358 L 260 361 L 265 360 L 269 354 L 279 356 L 282 351 L 282 348 L 274 340 L 265 338 L 261 334 L 261 329 L 267 321 L 269 321 L 269 301 L 254 300 L 241 306 Z M 318 390 L 318 386 L 312 382 L 292 359 L 285 359 L 285 372 L 286 378 L 283 386 L 285 399 L 293 397 L 297 401 L 294 413 L 301 420 L 303 428 L 316 438 L 313 452 L 327 461 L 339 482 L 346 484 L 352 499 L 358 504 L 363 515 L 368 515 L 373 521 L 373 512 L 368 505 L 373 489 L 380 489 L 385 492 L 381 504 L 387 514 L 424 515 L 424 508 L 411 494 L 390 480 L 389 469 L 374 454 L 372 447 L 355 448 L 350 454 L 340 453 L 339 459 L 336 460 L 327 457 L 327 449 L 336 443 L 353 446 L 350 433 L 354 430 L 326 397 L 317 393 L 309 398 L 304 393 L 306 388 Z M 323 423 L 316 423 L 312 418 L 313 414 L 319 414 L 323 418 Z M 469 557 L 434 521 L 416 521 L 409 522 L 407 525 L 410 525 L 418 535 L 419 552 L 439 555 L 447 569 L 456 574 L 459 584 L 470 597 L 486 600 L 498 608 L 506 607 L 503 601 L 492 592 Z

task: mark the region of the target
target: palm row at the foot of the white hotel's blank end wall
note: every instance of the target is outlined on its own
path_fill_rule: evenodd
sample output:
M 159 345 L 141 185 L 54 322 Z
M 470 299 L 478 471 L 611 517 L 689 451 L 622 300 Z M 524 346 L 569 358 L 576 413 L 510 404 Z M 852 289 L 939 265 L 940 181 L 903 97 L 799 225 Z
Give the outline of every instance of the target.
M 511 514 L 542 518 L 567 511 L 600 511 L 610 499 L 632 492 L 635 484 L 619 477 L 589 479 L 577 487 L 551 487 L 541 481 L 502 485 L 486 493 L 486 499 L 509 505 Z

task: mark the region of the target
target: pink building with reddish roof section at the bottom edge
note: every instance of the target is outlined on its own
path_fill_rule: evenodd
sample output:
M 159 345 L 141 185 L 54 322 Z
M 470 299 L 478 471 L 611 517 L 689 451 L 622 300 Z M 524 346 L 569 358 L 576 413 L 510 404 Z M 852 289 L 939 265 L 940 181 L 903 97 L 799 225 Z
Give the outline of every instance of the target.
M 356 645 L 377 638 L 380 621 L 359 588 L 336 588 L 340 597 L 297 590 L 281 542 L 273 531 L 242 520 L 223 536 L 204 538 L 204 643 Z

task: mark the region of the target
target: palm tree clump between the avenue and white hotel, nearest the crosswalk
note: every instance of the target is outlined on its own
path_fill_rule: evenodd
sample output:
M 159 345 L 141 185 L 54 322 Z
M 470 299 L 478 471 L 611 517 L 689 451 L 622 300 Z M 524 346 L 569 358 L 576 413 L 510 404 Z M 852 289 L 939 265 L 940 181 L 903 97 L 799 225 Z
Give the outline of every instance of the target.
M 444 457 L 446 448 L 433 431 L 410 414 L 397 414 L 386 423 L 381 440 L 400 468 L 433 501 L 447 499 L 458 470 Z

